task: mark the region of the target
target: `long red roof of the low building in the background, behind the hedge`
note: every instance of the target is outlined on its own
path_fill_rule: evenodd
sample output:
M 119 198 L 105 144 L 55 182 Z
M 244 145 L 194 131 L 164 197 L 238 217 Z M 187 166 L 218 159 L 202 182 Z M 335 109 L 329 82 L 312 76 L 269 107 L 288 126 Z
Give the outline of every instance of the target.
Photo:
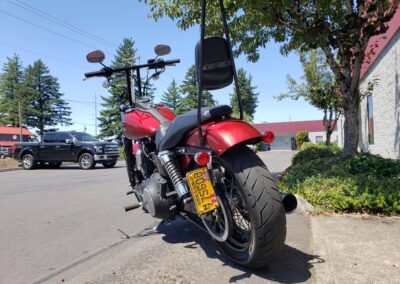
M 325 131 L 324 123 L 322 120 L 255 123 L 253 124 L 253 126 L 260 132 L 268 130 L 274 132 L 275 134 L 293 133 L 299 131 L 308 131 L 308 132 Z

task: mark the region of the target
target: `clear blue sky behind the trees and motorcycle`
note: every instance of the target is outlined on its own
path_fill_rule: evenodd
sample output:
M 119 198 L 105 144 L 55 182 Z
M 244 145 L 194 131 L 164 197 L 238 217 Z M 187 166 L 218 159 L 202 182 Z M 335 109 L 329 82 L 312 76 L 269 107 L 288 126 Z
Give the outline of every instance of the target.
M 101 86 L 102 79 L 82 81 L 84 72 L 100 67 L 87 63 L 85 55 L 93 49 L 102 49 L 108 63 L 114 57 L 115 48 L 67 30 L 13 3 L 20 6 L 26 3 L 101 37 L 114 46 L 119 45 L 123 38 L 130 37 L 135 40 L 142 63 L 154 57 L 153 48 L 156 44 L 170 45 L 172 52 L 165 58 L 180 58 L 181 63 L 169 68 L 160 80 L 154 82 L 157 87 L 156 102 L 171 80 L 175 78 L 181 82 L 187 69 L 194 63 L 194 46 L 199 38 L 199 28 L 181 31 L 168 18 L 155 22 L 147 17 L 149 8 L 136 0 L 0 0 L 0 65 L 3 66 L 6 57 L 14 53 L 20 55 L 24 66 L 41 58 L 51 74 L 58 77 L 64 98 L 72 107 L 75 124 L 64 129 L 83 130 L 86 126 L 88 132 L 94 133 L 94 96 L 107 96 L 108 92 Z M 282 56 L 279 45 L 275 43 L 270 43 L 260 53 L 257 63 L 247 62 L 243 56 L 236 61 L 238 68 L 243 67 L 253 76 L 253 85 L 257 86 L 260 93 L 255 122 L 321 119 L 321 112 L 304 101 L 278 102 L 274 99 L 274 96 L 286 90 L 287 74 L 300 77 L 298 57 L 295 54 Z M 215 99 L 219 103 L 229 103 L 230 92 L 232 87 L 220 90 L 215 93 Z

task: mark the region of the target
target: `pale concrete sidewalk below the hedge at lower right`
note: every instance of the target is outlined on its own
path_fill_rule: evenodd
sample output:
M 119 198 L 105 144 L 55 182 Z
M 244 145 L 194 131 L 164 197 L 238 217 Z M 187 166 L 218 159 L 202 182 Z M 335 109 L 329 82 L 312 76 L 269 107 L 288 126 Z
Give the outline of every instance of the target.
M 400 217 L 311 217 L 318 283 L 400 283 Z

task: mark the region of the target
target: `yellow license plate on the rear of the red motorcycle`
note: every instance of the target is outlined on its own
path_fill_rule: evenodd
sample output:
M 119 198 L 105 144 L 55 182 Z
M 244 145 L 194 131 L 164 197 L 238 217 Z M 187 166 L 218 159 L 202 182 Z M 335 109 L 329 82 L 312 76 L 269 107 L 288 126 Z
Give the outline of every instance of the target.
M 218 208 L 217 196 L 215 195 L 207 168 L 188 172 L 186 178 L 199 215 Z

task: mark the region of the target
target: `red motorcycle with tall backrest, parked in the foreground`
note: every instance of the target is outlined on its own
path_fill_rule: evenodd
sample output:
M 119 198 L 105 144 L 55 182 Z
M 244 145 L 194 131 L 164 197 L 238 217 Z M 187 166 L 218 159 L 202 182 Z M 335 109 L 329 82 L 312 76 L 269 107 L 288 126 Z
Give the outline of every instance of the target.
M 215 90 L 235 81 L 225 9 L 220 0 L 224 37 L 204 37 L 206 5 L 202 1 L 201 39 L 196 46 L 199 107 L 176 116 L 169 108 L 153 104 L 144 94 L 140 71 L 154 70 L 147 79 L 158 77 L 180 60 L 163 60 L 170 48 L 158 45 L 156 59 L 147 64 L 86 73 L 86 78 L 110 78 L 124 73 L 128 105 L 121 106 L 123 142 L 128 177 L 138 203 L 163 220 L 182 216 L 201 226 L 234 262 L 249 268 L 266 265 L 283 246 L 286 216 L 296 209 L 296 198 L 279 192 L 273 177 L 257 154 L 246 145 L 272 142 L 241 119 L 232 117 L 227 105 L 202 107 L 203 89 Z M 87 55 L 101 63 L 104 53 Z M 103 65 L 104 66 L 104 65 Z M 134 74 L 132 74 L 134 73 Z M 131 81 L 137 84 L 133 94 Z

